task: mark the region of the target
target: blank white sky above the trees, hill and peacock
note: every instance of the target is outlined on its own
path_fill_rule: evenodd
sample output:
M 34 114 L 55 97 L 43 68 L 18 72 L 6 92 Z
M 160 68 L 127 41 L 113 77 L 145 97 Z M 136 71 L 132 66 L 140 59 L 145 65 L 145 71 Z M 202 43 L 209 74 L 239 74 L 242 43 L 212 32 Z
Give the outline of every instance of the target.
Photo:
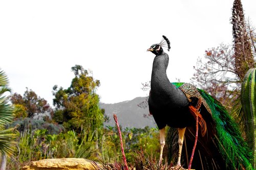
M 68 88 L 76 64 L 100 81 L 102 103 L 146 96 L 162 35 L 170 40 L 167 76 L 190 82 L 205 50 L 232 44 L 231 0 L 0 1 L 0 69 L 12 92 L 26 87 L 52 105 L 52 88 Z M 256 26 L 256 1 L 242 1 Z

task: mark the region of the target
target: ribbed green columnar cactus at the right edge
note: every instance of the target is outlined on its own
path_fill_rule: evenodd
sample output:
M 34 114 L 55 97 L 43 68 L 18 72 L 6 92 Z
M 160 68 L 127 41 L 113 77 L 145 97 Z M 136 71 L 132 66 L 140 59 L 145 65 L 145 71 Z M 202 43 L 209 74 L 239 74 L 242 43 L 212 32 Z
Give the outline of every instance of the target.
M 253 164 L 256 164 L 256 68 L 247 71 L 241 91 L 241 103 L 245 115 L 245 134 L 246 141 L 253 151 Z

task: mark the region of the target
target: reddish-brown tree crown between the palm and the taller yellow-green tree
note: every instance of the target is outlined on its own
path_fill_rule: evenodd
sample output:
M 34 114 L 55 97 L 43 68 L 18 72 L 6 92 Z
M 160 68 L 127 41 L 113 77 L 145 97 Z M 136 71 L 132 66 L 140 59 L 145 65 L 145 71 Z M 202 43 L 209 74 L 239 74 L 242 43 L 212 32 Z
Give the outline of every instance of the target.
M 25 109 L 28 117 L 33 117 L 34 113 L 50 113 L 53 114 L 53 109 L 44 98 L 40 98 L 37 94 L 26 88 L 24 95 L 14 93 L 11 96 L 11 102 L 19 106 L 20 109 Z M 21 108 L 23 106 L 23 108 Z M 25 115 L 25 114 L 23 114 Z

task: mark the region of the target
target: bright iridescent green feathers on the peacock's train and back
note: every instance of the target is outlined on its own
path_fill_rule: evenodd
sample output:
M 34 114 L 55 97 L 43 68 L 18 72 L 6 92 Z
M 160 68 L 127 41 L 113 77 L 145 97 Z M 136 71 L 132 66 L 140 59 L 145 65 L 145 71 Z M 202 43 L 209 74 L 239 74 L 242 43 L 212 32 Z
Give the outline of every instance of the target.
M 184 83 L 172 83 L 177 88 Z M 234 123 L 227 110 L 220 102 L 201 89 L 197 89 L 210 107 L 212 119 L 215 122 L 216 134 L 212 140 L 218 146 L 224 160 L 226 160 L 227 169 L 253 169 L 252 152 L 247 143 L 242 138 L 239 127 Z

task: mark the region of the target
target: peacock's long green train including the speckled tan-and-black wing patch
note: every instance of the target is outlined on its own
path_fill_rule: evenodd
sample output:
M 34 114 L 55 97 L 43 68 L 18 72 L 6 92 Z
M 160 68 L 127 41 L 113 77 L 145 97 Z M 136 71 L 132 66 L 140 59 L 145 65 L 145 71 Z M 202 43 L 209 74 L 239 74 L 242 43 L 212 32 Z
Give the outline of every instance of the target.
M 210 115 L 209 117 L 211 117 L 213 122 L 212 124 L 207 124 L 208 137 L 215 145 L 212 147 L 217 148 L 220 153 L 223 162 L 225 162 L 226 169 L 253 169 L 251 165 L 252 152 L 242 138 L 238 125 L 230 117 L 225 107 L 207 92 L 191 84 L 172 84 L 186 94 L 189 102 L 193 102 L 192 100 L 194 98 L 202 100 L 202 104 L 205 108 L 204 112 L 206 112 L 206 114 L 203 114 L 202 110 L 203 118 Z M 199 144 L 200 143 L 203 142 L 199 141 Z M 198 150 L 202 148 L 203 147 L 200 147 Z M 203 152 L 201 151 L 201 153 Z

